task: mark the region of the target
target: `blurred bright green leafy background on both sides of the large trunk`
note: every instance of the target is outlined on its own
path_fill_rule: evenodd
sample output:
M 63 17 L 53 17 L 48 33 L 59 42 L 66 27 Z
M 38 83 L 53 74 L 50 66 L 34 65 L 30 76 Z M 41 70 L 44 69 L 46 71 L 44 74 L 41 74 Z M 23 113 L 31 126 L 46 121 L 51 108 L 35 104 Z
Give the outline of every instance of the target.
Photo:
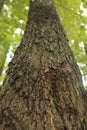
M 87 88 L 87 0 L 55 0 L 55 6 Z M 0 85 L 24 34 L 28 0 L 5 0 L 0 12 Z

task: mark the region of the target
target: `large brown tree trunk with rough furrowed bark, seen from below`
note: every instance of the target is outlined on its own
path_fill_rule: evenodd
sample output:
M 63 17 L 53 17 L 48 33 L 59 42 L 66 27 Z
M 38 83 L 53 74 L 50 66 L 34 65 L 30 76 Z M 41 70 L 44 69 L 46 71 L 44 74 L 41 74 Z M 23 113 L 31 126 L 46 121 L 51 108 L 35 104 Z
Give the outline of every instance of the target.
M 85 90 L 52 0 L 31 2 L 0 91 L 0 130 L 87 130 Z

